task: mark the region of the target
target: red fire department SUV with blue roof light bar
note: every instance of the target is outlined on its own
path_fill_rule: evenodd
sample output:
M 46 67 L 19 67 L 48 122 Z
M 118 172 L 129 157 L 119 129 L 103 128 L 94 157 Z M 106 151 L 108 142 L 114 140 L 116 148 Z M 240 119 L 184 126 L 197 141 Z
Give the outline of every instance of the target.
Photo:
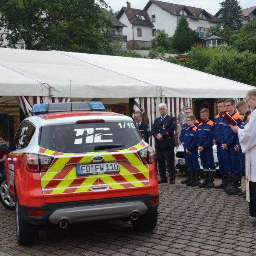
M 38 240 L 39 227 L 105 219 L 157 224 L 153 149 L 128 116 L 100 112 L 100 102 L 38 104 L 23 120 L 5 163 L 16 202 L 17 241 Z

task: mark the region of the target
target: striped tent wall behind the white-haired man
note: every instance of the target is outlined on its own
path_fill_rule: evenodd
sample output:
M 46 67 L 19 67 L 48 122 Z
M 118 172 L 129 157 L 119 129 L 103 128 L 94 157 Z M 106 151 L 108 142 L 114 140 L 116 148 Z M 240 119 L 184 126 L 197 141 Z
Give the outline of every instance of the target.
M 148 98 L 135 98 L 134 99 L 134 111 L 144 111 L 144 116 L 147 117 L 150 130 L 154 123 L 154 119 L 160 116 L 158 111 L 158 105 L 160 103 L 166 103 L 168 115 L 175 116 L 177 119 L 180 110 L 183 107 L 191 107 L 191 98 L 170 98 L 170 97 L 148 97 Z M 175 130 L 176 144 L 178 142 L 177 129 Z M 154 138 L 150 136 L 149 144 L 154 147 Z

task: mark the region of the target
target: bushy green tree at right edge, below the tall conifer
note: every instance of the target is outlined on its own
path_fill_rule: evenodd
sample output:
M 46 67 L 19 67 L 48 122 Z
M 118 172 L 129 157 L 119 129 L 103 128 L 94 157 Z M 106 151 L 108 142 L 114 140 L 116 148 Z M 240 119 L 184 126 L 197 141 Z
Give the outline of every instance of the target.
M 240 52 L 249 50 L 256 53 L 256 18 L 232 35 L 230 43 L 237 46 Z

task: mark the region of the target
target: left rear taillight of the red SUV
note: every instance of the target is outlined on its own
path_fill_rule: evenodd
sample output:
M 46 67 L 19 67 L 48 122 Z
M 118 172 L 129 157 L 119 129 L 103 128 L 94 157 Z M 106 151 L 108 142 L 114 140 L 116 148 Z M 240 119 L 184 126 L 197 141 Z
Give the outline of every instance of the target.
M 29 172 L 46 172 L 53 160 L 53 157 L 31 153 L 24 153 L 22 158 Z

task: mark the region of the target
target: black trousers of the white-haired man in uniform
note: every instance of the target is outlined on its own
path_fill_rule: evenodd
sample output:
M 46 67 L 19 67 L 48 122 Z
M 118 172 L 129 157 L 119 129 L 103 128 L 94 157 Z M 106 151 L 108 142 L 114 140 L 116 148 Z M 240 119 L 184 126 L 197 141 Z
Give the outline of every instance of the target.
M 166 180 L 166 163 L 169 168 L 170 180 L 175 180 L 174 147 L 157 148 L 157 164 L 161 180 Z

